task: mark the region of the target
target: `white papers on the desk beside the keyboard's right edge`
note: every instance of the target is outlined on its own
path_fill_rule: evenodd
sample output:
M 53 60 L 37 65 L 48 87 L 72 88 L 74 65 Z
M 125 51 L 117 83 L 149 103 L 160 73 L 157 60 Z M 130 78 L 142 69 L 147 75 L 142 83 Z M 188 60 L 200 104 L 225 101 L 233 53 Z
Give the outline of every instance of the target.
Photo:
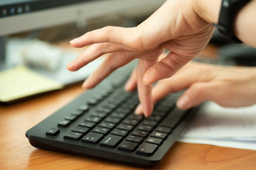
M 224 108 L 208 102 L 179 141 L 256 150 L 256 105 Z

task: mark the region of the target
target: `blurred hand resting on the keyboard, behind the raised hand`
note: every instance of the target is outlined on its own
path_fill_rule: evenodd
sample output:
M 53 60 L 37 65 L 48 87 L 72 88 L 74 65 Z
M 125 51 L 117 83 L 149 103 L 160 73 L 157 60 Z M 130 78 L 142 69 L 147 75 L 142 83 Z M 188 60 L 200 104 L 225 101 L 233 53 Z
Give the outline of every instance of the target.
M 224 67 L 190 62 L 173 77 L 159 81 L 152 91 L 153 101 L 187 89 L 178 98 L 176 106 L 188 109 L 203 101 L 214 101 L 221 106 L 240 107 L 256 103 L 256 68 Z M 136 89 L 136 77 L 132 74 L 126 84 L 127 91 Z M 136 113 L 142 113 L 138 106 Z

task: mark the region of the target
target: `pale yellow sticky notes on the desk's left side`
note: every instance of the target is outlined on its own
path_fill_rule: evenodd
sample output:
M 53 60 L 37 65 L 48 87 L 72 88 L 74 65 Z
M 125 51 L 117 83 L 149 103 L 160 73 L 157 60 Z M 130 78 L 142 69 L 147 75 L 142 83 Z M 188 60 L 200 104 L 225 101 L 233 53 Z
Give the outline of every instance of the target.
M 1 102 L 61 88 L 63 88 L 62 83 L 33 72 L 23 65 L 0 72 Z

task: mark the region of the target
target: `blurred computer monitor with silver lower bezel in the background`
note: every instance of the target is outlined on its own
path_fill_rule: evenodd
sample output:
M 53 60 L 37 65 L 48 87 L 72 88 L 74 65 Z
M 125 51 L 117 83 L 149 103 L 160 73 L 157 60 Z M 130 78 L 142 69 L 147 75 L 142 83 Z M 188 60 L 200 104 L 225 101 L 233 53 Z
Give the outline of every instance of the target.
M 86 22 L 110 13 L 141 15 L 153 12 L 164 1 L 0 0 L 0 63 L 5 62 L 6 35 L 65 23 Z

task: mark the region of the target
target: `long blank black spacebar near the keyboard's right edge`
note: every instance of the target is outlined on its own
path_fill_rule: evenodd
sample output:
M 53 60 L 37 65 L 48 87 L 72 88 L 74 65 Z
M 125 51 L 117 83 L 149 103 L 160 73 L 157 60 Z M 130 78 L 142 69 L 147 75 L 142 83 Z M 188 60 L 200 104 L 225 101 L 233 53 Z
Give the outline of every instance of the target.
M 178 108 L 174 108 L 174 110 L 172 110 L 171 113 L 169 113 L 169 115 L 167 115 L 167 117 L 164 118 L 160 125 L 169 128 L 174 128 L 178 121 L 181 120 L 181 118 L 183 117 L 183 115 L 185 115 L 186 112 L 187 111 L 182 111 Z

